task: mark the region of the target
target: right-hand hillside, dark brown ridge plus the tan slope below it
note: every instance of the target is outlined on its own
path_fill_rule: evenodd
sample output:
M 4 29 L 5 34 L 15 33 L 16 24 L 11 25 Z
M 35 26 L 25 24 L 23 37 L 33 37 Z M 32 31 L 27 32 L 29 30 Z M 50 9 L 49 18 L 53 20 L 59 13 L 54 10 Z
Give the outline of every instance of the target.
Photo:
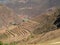
M 50 8 L 45 13 L 34 19 L 40 23 L 40 27 L 33 31 L 37 36 L 28 41 L 30 44 L 45 42 L 60 37 L 60 9 Z M 39 35 L 38 35 L 39 34 Z

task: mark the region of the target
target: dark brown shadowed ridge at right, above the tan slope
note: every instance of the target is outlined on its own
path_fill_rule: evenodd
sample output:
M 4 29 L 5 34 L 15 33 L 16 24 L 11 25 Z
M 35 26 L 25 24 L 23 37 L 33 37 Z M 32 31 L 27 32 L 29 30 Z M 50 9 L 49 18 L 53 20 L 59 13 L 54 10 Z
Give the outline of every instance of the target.
M 57 24 L 59 22 L 57 21 L 57 23 L 55 24 L 55 21 L 59 20 L 58 18 L 60 18 L 60 9 L 58 9 L 58 8 L 50 8 L 45 13 L 43 13 L 43 14 L 41 14 L 39 16 L 36 16 L 32 20 L 35 20 L 35 21 L 40 23 L 40 31 L 44 30 L 43 32 L 45 32 L 45 31 L 48 32 L 49 30 L 52 31 L 52 30 L 55 30 L 55 29 L 58 28 Z

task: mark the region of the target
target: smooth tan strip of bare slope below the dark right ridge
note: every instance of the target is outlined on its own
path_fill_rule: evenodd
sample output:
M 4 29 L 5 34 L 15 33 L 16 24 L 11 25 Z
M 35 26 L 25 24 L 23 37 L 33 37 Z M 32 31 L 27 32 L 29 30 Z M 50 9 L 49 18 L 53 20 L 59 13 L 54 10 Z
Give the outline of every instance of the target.
M 43 42 L 46 42 L 46 41 L 49 41 L 58 37 L 60 37 L 60 29 L 40 34 L 36 36 L 35 38 L 33 38 L 32 40 L 29 40 L 28 44 L 36 44 L 39 42 L 43 43 Z

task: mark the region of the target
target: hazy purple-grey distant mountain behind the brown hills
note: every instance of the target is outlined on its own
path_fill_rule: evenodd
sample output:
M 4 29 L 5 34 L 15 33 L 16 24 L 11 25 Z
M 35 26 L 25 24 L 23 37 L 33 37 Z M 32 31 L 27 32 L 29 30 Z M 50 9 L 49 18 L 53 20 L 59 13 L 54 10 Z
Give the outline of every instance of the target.
M 17 14 L 39 15 L 53 6 L 60 6 L 60 0 L 0 0 Z M 5 2 L 5 3 L 4 3 Z M 22 9 L 24 8 L 24 9 Z

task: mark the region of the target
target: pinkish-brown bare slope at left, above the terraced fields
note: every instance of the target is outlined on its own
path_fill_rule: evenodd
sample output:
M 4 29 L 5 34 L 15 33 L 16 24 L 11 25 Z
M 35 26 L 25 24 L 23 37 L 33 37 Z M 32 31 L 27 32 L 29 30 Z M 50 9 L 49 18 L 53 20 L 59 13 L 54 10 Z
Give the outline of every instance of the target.
M 0 4 L 0 27 L 8 26 L 13 20 L 18 18 L 17 14 L 14 13 L 10 8 Z

